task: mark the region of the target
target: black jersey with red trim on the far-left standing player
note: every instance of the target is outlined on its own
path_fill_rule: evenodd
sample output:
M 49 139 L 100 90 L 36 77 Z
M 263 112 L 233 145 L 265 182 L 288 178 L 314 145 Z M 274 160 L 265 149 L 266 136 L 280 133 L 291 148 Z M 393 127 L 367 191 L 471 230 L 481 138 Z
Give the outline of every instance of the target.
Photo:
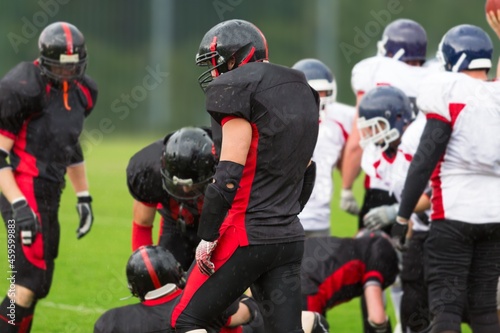
M 88 76 L 63 89 L 40 74 L 37 62 L 22 62 L 0 81 L 0 134 L 14 140 L 15 173 L 62 182 L 66 167 L 83 161 L 79 136 L 97 99 Z

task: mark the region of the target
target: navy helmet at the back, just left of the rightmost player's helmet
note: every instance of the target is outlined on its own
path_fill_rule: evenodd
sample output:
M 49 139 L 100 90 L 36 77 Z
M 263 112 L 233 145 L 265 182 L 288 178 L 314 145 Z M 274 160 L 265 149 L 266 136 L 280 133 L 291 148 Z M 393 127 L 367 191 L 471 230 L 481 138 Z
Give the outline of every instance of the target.
M 423 63 L 427 52 L 427 34 L 419 23 L 410 19 L 398 19 L 384 29 L 377 47 L 379 55 Z

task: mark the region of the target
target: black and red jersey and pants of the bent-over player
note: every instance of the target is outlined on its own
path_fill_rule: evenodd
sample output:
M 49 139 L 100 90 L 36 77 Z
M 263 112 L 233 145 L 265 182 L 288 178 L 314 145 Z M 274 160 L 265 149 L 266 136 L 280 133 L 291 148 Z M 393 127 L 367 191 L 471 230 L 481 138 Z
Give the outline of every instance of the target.
M 196 231 L 203 196 L 179 200 L 163 189 L 160 172 L 163 142 L 163 139 L 155 141 L 132 156 L 127 166 L 127 185 L 135 200 L 157 208 L 161 215 L 158 245 L 172 252 L 187 271 L 200 242 Z

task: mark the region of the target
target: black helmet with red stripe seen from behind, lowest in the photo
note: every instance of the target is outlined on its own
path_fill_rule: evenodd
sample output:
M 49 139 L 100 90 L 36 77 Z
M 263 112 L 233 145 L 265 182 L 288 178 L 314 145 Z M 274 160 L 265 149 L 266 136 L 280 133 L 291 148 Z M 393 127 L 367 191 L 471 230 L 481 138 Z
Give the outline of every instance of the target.
M 127 262 L 128 288 L 135 297 L 144 300 L 150 291 L 167 283 L 184 288 L 186 274 L 181 264 L 167 249 L 156 246 L 141 246 L 132 253 Z

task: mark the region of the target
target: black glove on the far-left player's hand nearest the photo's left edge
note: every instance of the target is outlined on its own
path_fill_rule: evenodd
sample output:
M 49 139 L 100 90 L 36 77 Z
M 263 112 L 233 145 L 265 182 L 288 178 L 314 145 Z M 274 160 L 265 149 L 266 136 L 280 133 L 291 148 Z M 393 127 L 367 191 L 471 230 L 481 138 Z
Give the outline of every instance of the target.
M 16 233 L 24 245 L 31 245 L 35 235 L 40 231 L 40 224 L 35 212 L 28 206 L 25 199 L 12 204 L 12 218 L 15 221 Z

